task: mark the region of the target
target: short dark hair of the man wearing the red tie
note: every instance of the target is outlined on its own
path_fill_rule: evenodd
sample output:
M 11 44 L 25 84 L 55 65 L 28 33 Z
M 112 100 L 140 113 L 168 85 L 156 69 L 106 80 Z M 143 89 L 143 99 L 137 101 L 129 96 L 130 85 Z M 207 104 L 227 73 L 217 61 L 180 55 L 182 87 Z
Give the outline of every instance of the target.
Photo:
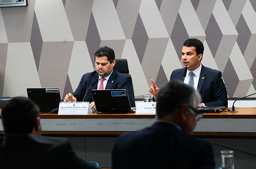
M 94 53 L 94 61 L 96 57 L 102 57 L 102 56 L 107 56 L 107 60 L 110 61 L 110 63 L 115 60 L 115 52 L 112 48 L 107 47 L 107 46 L 102 46 L 99 47 Z

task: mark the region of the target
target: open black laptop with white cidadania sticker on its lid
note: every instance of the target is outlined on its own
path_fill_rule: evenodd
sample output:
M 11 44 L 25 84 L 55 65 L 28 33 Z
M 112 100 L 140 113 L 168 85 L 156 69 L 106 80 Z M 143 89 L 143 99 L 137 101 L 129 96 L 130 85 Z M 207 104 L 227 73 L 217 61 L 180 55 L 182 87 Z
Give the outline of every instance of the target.
M 60 89 L 57 87 L 27 88 L 27 94 L 39 106 L 41 113 L 50 113 L 59 108 Z M 57 110 L 53 112 L 57 113 Z

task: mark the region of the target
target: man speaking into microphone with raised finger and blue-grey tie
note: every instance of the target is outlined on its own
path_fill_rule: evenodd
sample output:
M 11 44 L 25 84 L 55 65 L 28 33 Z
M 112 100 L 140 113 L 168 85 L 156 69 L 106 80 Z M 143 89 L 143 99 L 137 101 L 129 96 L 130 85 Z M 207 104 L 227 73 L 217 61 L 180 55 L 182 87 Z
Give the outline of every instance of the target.
M 184 42 L 181 52 L 182 60 L 184 67 L 188 68 L 184 83 L 193 84 L 201 94 L 202 103 L 199 103 L 199 106 L 227 107 L 227 90 L 221 78 L 221 72 L 201 64 L 203 52 L 204 45 L 200 40 L 192 38 Z M 183 80 L 184 70 L 185 68 L 174 70 L 170 81 L 173 79 Z M 193 74 L 191 75 L 190 72 Z M 190 83 L 190 77 L 192 77 L 193 83 Z M 150 86 L 149 92 L 156 98 L 159 88 L 153 79 L 151 79 L 151 82 L 153 85 Z

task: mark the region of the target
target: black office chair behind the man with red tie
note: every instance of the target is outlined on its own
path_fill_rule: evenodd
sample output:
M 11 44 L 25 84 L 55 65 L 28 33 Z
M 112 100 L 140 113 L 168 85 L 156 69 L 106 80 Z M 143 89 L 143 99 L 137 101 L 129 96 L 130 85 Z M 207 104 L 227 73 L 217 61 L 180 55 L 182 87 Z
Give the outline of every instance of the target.
M 128 62 L 127 59 L 115 59 L 115 66 L 114 69 L 122 74 L 127 74 L 128 76 L 132 76 L 129 74 Z M 135 98 L 134 98 L 134 90 L 132 84 L 132 100 L 130 101 L 131 107 L 135 107 Z

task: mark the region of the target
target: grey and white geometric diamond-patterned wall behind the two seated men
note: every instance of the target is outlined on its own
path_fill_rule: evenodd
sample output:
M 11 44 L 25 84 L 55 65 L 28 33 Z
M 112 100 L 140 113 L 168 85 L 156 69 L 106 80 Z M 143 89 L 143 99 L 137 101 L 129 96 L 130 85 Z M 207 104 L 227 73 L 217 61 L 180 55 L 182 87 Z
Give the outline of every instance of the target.
M 0 97 L 27 87 L 77 88 L 100 46 L 126 58 L 135 98 L 182 68 L 187 38 L 204 46 L 202 64 L 223 74 L 229 97 L 256 89 L 255 0 L 28 0 L 0 8 Z

